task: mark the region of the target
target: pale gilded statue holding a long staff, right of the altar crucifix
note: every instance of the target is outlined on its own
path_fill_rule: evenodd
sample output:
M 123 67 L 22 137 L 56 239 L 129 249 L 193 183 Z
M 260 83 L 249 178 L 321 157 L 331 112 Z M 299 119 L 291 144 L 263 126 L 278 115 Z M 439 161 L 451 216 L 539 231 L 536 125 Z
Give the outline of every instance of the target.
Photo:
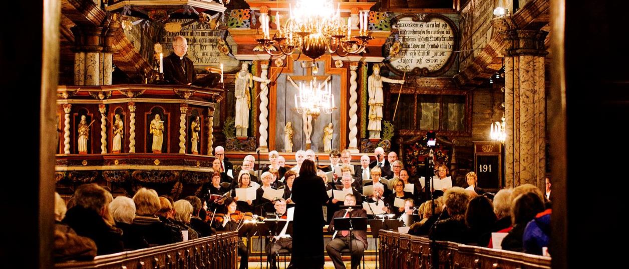
M 382 94 L 382 82 L 395 84 L 404 84 L 404 80 L 389 79 L 380 75 L 380 67 L 374 65 L 374 74 L 367 79 L 367 91 L 369 92 L 369 138 L 380 138 L 382 130 L 382 103 L 384 102 L 384 94 Z

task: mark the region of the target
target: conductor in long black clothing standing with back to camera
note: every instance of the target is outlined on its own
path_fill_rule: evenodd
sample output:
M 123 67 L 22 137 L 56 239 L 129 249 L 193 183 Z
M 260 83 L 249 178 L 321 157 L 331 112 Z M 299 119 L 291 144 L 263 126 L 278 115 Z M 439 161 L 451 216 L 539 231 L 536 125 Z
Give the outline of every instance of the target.
M 304 160 L 292 185 L 295 202 L 292 228 L 292 268 L 323 268 L 323 205 L 328 200 L 323 178 L 316 176 L 315 163 Z

